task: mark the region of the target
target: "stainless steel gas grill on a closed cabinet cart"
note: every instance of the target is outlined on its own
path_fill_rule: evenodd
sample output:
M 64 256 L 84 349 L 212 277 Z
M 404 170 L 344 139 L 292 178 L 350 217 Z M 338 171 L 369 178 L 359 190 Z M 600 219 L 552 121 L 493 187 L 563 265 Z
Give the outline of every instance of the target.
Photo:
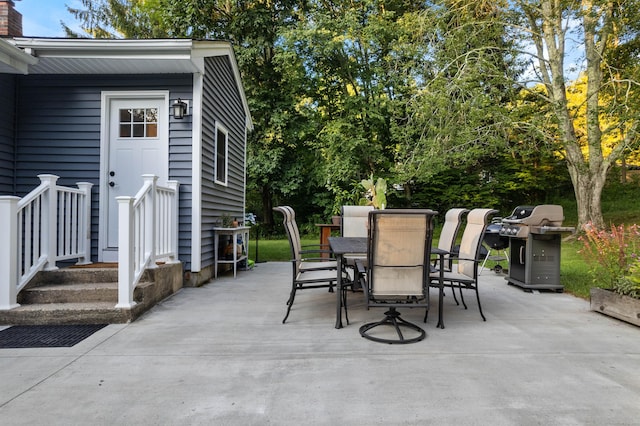
M 500 235 L 509 237 L 507 281 L 525 290 L 562 291 L 561 235 L 575 228 L 562 226 L 562 206 L 518 206 L 502 219 Z

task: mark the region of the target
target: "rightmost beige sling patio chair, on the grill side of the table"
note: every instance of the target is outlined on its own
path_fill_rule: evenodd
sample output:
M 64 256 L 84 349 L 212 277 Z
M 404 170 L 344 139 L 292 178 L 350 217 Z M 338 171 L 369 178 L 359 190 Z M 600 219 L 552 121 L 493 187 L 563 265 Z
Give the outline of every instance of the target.
M 460 242 L 460 251 L 458 253 L 457 262 L 452 265 L 451 271 L 442 272 L 442 282 L 440 282 L 440 271 L 432 272 L 430 275 L 431 285 L 438 287 L 443 291 L 444 287 L 451 287 L 455 295 L 455 290 L 460 292 L 460 300 L 467 309 L 464 301 L 463 289 L 475 290 L 476 300 L 478 301 L 478 310 L 483 321 L 487 319 L 482 312 L 480 304 L 480 293 L 478 293 L 478 264 L 482 261 L 480 256 L 480 248 L 482 247 L 482 239 L 484 231 L 489 224 L 489 217 L 497 213 L 493 209 L 473 209 L 467 215 L 467 224 L 462 233 L 462 241 Z M 457 303 L 457 300 L 456 300 Z M 441 325 L 444 328 L 444 324 Z

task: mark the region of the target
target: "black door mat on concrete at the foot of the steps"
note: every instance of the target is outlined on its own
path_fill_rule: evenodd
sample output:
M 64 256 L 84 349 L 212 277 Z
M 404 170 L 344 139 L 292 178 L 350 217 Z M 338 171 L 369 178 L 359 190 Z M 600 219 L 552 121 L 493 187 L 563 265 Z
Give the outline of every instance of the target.
M 14 325 L 0 331 L 0 349 L 69 348 L 106 325 Z

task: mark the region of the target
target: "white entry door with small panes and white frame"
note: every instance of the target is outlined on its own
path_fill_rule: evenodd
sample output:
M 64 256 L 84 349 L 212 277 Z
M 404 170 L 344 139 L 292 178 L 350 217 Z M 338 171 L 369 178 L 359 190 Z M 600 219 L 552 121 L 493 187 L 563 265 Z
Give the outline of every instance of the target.
M 149 96 L 149 95 L 146 95 Z M 133 197 L 142 187 L 142 175 L 158 176 L 164 185 L 168 179 L 168 110 L 165 96 L 127 95 L 107 97 L 107 133 L 103 150 L 102 193 L 108 200 L 101 209 L 102 261 L 117 261 L 118 203 L 116 197 Z M 104 198 L 103 198 L 104 200 Z M 106 217 L 105 217 L 106 216 Z

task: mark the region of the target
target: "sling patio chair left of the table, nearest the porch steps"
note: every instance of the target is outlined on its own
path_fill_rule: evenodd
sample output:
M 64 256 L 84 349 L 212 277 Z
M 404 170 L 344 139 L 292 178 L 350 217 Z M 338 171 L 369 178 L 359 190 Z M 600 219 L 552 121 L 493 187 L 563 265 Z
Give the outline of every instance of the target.
M 335 259 L 323 258 L 322 254 L 329 252 L 328 248 L 324 249 L 319 245 L 305 246 L 303 247 L 300 242 L 300 232 L 298 225 L 295 221 L 295 212 L 289 206 L 278 206 L 273 208 L 274 211 L 280 212 L 283 215 L 283 224 L 287 232 L 289 239 L 289 246 L 291 248 L 291 265 L 292 265 L 292 280 L 291 291 L 289 293 L 289 299 L 287 299 L 287 312 L 285 314 L 282 323 L 284 324 L 289 317 L 291 307 L 296 298 L 296 292 L 298 290 L 305 290 L 311 288 L 328 288 L 330 292 L 333 291 L 338 279 L 338 266 Z M 311 248 L 307 248 L 311 247 Z M 345 314 L 347 311 L 347 293 L 346 288 L 352 286 L 352 281 L 346 272 L 342 273 L 343 279 L 343 292 L 341 297 L 343 298 L 343 306 Z M 346 282 L 346 284 L 344 284 Z M 349 317 L 347 316 L 347 323 Z

